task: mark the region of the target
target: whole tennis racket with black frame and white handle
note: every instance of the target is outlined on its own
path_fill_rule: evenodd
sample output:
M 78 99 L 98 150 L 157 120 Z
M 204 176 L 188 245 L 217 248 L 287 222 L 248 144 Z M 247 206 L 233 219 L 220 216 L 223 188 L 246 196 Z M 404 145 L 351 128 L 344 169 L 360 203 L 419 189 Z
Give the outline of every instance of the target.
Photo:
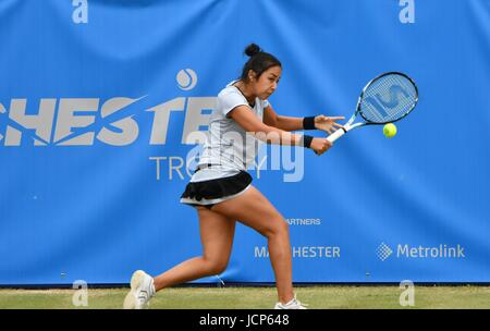
M 328 136 L 327 139 L 333 143 L 351 130 L 359 126 L 400 121 L 414 110 L 417 101 L 417 85 L 411 77 L 399 72 L 381 74 L 363 89 L 357 101 L 357 109 L 348 122 Z M 364 119 L 364 122 L 354 123 L 358 114 Z

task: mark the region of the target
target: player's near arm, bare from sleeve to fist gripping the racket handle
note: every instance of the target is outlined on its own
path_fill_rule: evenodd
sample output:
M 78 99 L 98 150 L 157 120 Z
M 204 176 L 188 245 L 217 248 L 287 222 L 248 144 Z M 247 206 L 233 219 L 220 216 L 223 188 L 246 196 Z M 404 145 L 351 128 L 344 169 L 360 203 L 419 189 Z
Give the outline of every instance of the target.
M 268 144 L 302 146 L 302 135 L 293 134 L 265 124 L 247 106 L 237 106 L 231 110 L 228 117 L 232 118 L 246 132 Z M 309 148 L 318 155 L 327 151 L 332 144 L 327 138 L 314 138 Z

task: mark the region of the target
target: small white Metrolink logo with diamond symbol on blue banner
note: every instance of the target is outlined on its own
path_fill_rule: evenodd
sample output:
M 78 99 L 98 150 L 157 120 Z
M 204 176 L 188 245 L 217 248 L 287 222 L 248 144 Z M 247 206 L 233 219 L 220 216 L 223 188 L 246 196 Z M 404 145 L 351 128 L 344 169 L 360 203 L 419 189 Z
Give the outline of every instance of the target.
M 381 261 L 385 261 L 393 254 L 394 250 L 387 244 L 381 243 L 376 249 L 376 254 Z M 465 248 L 457 244 L 456 246 L 449 246 L 440 244 L 436 247 L 411 246 L 407 244 L 399 244 L 396 246 L 396 258 L 466 258 Z

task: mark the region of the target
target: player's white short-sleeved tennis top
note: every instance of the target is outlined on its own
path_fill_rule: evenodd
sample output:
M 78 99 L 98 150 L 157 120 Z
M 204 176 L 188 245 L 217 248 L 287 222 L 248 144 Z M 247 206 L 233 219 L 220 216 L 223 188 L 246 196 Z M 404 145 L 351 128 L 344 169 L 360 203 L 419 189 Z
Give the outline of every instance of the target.
M 218 94 L 217 107 L 209 119 L 209 134 L 204 144 L 198 162 L 201 164 L 219 164 L 201 169 L 196 172 L 191 182 L 200 182 L 219 177 L 226 177 L 246 171 L 257 157 L 260 140 L 245 132 L 233 119 L 226 114 L 237 106 L 249 107 L 246 98 L 233 84 L 233 81 Z M 267 100 L 255 99 L 254 108 L 249 110 L 264 121 L 264 109 L 269 106 Z

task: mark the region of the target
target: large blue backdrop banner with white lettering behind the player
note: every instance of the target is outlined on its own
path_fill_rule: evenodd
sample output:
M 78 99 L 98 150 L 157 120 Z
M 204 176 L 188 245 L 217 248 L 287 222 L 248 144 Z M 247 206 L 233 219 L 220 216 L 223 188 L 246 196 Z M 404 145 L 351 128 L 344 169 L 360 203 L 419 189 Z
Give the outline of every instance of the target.
M 0 0 L 0 284 L 200 255 L 179 199 L 249 42 L 282 62 L 279 114 L 348 118 L 389 71 L 420 93 L 391 139 L 262 146 L 249 173 L 290 223 L 295 282 L 490 282 L 490 1 Z M 273 282 L 266 238 L 238 224 L 198 282 L 220 280 Z

